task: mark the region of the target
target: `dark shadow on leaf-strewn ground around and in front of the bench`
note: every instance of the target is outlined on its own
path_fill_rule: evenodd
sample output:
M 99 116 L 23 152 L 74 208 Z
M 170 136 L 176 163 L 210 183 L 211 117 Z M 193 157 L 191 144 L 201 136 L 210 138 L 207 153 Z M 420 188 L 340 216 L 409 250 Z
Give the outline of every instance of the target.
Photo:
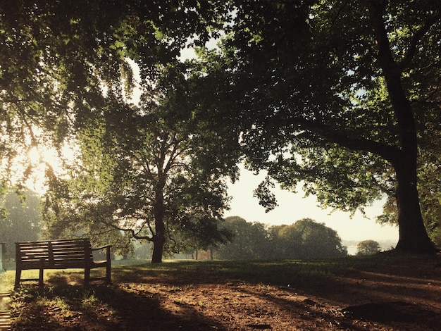
M 191 306 L 185 314 L 161 307 L 147 290 L 73 285 L 75 278 L 54 275 L 43 289 L 22 285 L 15 293 L 14 330 L 225 330 Z

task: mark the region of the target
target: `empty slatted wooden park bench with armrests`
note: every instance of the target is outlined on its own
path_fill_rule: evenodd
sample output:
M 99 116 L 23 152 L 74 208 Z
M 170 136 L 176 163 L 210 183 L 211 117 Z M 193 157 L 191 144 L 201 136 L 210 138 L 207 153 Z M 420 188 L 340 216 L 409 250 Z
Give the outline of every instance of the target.
M 111 283 L 111 246 L 102 246 L 92 249 L 89 239 L 59 239 L 44 240 L 41 242 L 15 243 L 15 288 L 20 280 L 38 280 L 43 286 L 44 269 L 72 269 L 85 270 L 85 285 L 91 280 L 105 280 Z M 92 251 L 106 249 L 106 261 L 94 261 Z M 90 270 L 106 268 L 106 277 L 90 277 Z M 21 279 L 22 270 L 39 269 L 38 278 Z

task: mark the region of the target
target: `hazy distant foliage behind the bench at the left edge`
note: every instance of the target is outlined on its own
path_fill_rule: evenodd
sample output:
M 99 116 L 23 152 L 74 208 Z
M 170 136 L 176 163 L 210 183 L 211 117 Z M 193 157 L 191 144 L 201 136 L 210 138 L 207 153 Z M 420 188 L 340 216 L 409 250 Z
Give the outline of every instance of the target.
M 40 237 L 40 197 L 30 190 L 5 196 L 6 217 L 0 218 L 0 242 L 6 244 L 4 258 L 15 258 L 15 242 L 35 241 Z

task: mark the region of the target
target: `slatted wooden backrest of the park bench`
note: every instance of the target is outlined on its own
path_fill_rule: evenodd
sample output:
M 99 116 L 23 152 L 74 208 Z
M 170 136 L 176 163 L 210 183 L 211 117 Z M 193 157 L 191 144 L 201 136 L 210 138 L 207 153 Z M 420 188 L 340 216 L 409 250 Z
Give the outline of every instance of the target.
M 85 268 L 93 263 L 89 239 L 17 242 L 15 249 L 15 261 L 21 269 Z

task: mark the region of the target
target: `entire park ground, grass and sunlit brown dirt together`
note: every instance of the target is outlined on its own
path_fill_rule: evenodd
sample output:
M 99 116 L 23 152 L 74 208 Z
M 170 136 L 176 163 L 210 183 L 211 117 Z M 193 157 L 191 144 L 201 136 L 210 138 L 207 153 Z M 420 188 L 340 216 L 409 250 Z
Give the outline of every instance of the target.
M 36 271 L 37 273 L 37 271 Z M 440 330 L 441 257 L 114 266 L 48 272 L 11 297 L 14 330 Z M 3 277 L 11 288 L 13 272 Z

